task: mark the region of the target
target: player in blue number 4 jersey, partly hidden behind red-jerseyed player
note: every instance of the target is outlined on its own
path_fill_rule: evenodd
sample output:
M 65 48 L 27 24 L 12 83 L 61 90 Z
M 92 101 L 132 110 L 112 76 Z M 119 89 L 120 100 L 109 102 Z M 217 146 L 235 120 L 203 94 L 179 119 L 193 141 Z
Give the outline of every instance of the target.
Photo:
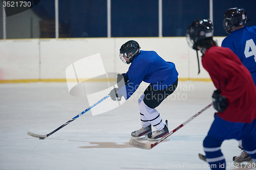
M 243 8 L 230 8 L 224 14 L 223 28 L 230 34 L 221 46 L 230 48 L 242 61 L 251 73 L 256 85 L 256 26 L 247 27 L 247 13 Z M 250 162 L 251 157 L 243 150 L 242 141 L 239 141 L 242 149 L 240 156 L 234 156 L 235 163 Z

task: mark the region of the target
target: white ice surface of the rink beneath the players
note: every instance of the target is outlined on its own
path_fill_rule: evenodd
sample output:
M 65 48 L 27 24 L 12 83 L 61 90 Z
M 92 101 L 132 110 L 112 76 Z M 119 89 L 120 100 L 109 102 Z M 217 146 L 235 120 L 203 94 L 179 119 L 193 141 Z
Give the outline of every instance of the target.
M 134 96 L 143 93 L 139 89 Z M 157 107 L 169 131 L 210 104 L 214 90 L 212 82 L 179 82 Z M 104 102 L 95 109 L 104 109 Z M 198 153 L 204 154 L 213 107 L 151 150 L 129 144 L 131 132 L 141 128 L 136 98 L 99 115 L 88 111 L 45 140 L 27 135 L 48 134 L 89 106 L 86 97 L 69 94 L 67 83 L 0 84 L 0 169 L 209 169 Z M 224 141 L 222 152 L 227 169 L 236 169 L 231 163 L 240 155 L 238 142 Z

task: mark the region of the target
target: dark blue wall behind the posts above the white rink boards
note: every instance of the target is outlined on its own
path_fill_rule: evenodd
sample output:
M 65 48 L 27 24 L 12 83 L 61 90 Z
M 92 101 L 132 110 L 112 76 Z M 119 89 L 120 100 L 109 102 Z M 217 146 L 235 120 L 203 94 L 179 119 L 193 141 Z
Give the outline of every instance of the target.
M 256 0 L 213 0 L 214 36 L 227 36 L 222 27 L 228 8 L 242 7 L 256 25 Z M 162 0 L 163 36 L 185 36 L 188 25 L 197 18 L 209 17 L 207 0 Z M 107 0 L 61 0 L 59 22 L 70 37 L 107 37 Z M 54 1 L 42 0 L 34 7 L 42 17 L 54 19 Z M 112 0 L 112 37 L 158 37 L 158 0 Z

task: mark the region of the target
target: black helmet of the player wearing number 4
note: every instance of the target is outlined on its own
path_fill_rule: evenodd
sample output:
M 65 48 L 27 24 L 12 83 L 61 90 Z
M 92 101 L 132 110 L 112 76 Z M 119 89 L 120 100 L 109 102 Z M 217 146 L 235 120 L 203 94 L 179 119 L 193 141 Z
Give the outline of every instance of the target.
M 230 30 L 234 27 L 245 25 L 247 21 L 247 13 L 243 8 L 230 8 L 224 14 L 223 28 L 230 34 Z

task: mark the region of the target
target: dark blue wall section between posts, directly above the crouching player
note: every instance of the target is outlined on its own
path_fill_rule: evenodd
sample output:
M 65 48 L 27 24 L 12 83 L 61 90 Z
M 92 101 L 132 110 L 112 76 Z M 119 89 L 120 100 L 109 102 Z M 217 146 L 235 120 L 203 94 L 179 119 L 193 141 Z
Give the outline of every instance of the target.
M 111 1 L 112 37 L 157 37 L 158 0 Z

